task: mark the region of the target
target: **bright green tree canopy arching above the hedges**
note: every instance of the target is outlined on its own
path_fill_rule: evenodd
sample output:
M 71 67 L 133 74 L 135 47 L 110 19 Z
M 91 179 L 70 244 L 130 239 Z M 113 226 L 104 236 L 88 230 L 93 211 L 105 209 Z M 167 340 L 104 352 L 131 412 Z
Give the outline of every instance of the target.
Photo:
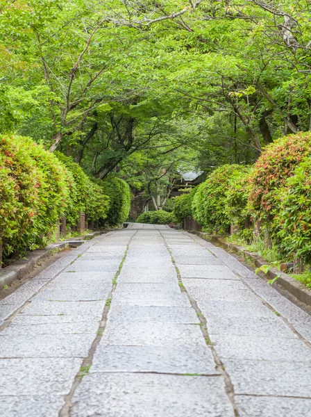
M 308 0 L 0 1 L 0 129 L 155 208 L 311 129 Z

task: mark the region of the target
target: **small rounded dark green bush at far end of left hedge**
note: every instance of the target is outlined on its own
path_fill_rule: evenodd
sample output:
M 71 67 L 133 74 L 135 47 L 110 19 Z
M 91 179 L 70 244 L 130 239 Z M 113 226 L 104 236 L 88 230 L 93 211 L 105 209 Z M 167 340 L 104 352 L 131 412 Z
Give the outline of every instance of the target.
M 126 181 L 117 177 L 98 181 L 98 184 L 110 199 L 106 224 L 110 227 L 119 226 L 126 221 L 130 213 L 131 189 Z

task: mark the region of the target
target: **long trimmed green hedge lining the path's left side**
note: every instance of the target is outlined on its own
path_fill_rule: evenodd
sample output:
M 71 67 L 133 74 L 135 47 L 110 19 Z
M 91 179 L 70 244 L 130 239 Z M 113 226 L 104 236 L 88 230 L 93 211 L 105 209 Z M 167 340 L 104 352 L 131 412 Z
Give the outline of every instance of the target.
M 76 225 L 81 211 L 89 220 L 106 222 L 110 214 L 108 224 L 124 222 L 131 205 L 128 184 L 113 178 L 105 187 L 111 207 L 103 186 L 72 158 L 51 154 L 31 138 L 0 136 L 0 267 L 14 252 L 46 245 L 64 215 L 69 225 Z

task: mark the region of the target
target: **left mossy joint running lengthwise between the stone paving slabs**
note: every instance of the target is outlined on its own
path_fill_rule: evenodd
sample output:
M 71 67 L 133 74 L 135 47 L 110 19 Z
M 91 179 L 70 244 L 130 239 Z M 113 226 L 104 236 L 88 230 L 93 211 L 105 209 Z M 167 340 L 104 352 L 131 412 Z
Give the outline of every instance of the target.
M 135 234 L 137 234 L 137 231 L 135 231 Z M 123 267 L 124 261 L 126 260 L 126 256 L 128 254 L 128 249 L 130 247 L 131 241 L 133 237 L 131 236 L 130 240 L 128 240 L 128 244 L 126 245 L 126 250 L 124 252 L 124 256 L 120 262 L 119 268 L 115 274 L 115 277 L 112 279 L 112 288 L 108 295 L 108 298 L 106 300 L 105 308 L 103 309 L 103 316 L 101 317 L 101 322 L 99 324 L 99 327 L 96 332 L 96 337 L 94 338 L 94 341 L 92 343 L 92 346 L 90 348 L 89 354 L 87 357 L 83 359 L 81 368 L 79 372 L 76 374 L 76 377 L 74 378 L 74 383 L 72 384 L 72 389 L 70 392 L 65 396 L 65 404 L 60 409 L 60 412 L 58 414 L 59 417 L 70 417 L 71 411 L 72 411 L 72 398 L 74 396 L 74 393 L 76 389 L 78 388 L 78 385 L 81 383 L 82 378 L 87 375 L 88 371 L 90 370 L 90 367 L 92 366 L 92 361 L 94 357 L 94 353 L 96 351 L 96 347 L 99 345 L 99 342 L 101 341 L 101 338 L 103 337 L 103 332 L 105 331 L 107 320 L 108 320 L 108 312 L 110 310 L 110 305 L 112 302 L 113 293 L 115 293 L 115 289 L 117 288 L 117 279 L 121 273 L 121 269 Z

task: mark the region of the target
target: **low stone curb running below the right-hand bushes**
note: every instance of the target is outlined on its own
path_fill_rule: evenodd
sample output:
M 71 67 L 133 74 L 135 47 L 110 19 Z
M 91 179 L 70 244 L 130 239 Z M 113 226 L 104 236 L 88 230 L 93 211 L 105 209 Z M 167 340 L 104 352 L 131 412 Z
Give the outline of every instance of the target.
M 241 252 L 245 256 L 249 256 L 254 262 L 255 265 L 260 268 L 262 265 L 269 265 L 267 261 L 265 261 L 261 256 L 255 254 L 253 252 L 249 252 L 243 246 L 234 245 L 233 243 L 228 243 L 217 235 L 211 235 L 208 233 L 204 233 L 202 231 L 190 231 L 190 233 L 203 238 L 204 240 L 208 240 L 211 243 L 216 243 L 217 245 L 223 247 L 225 250 L 230 250 L 231 252 L 235 252 L 235 254 L 240 254 Z M 296 279 L 290 277 L 285 272 L 281 272 L 277 268 L 271 267 L 270 270 L 267 272 L 266 277 L 269 279 L 274 279 L 278 277 L 277 283 L 272 284 L 272 287 L 276 288 L 277 286 L 283 287 L 286 291 L 288 291 L 291 295 L 296 297 L 297 300 L 311 306 L 311 290 L 306 288 L 301 282 L 297 281 Z

